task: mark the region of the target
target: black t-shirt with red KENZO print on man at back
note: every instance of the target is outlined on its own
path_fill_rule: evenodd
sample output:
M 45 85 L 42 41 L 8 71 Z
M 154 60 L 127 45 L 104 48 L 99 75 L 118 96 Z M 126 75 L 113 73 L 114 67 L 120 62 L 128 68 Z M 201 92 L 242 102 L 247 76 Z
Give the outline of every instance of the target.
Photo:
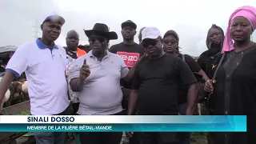
M 123 42 L 111 46 L 109 51 L 120 55 L 129 69 L 131 69 L 138 59 L 145 53 L 144 48 L 137 43 L 126 45 Z M 131 82 L 121 82 L 121 85 L 126 89 L 130 89 Z

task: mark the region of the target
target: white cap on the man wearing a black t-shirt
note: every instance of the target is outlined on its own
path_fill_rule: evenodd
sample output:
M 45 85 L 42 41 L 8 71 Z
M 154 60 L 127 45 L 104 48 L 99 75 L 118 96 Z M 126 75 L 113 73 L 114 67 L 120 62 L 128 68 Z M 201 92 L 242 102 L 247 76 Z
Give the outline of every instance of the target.
M 155 27 L 146 27 L 142 30 L 142 41 L 146 38 L 156 39 L 161 37 L 160 31 Z

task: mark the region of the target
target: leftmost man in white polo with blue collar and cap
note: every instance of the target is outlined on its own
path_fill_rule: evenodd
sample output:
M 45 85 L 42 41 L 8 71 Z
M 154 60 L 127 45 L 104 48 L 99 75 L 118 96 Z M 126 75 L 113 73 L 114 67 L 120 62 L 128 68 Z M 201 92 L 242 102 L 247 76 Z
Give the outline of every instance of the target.
M 47 15 L 41 25 L 42 38 L 18 47 L 0 82 L 0 102 L 12 80 L 25 72 L 32 115 L 70 114 L 65 75 L 66 51 L 54 44 L 64 23 L 65 19 L 58 14 Z M 37 132 L 34 137 L 37 144 L 65 142 L 65 133 Z

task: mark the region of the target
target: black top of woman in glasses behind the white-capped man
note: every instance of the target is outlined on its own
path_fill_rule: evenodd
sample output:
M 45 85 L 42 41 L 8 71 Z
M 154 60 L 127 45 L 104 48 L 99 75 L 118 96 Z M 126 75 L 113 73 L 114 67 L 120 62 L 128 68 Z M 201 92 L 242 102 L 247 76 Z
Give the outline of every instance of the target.
M 182 54 L 179 54 L 178 57 L 182 58 Z M 190 55 L 184 54 L 184 59 L 186 64 L 190 67 L 190 70 L 193 73 L 198 73 L 201 70 L 201 67 L 194 60 L 194 58 L 190 57 Z M 184 59 L 182 58 L 183 61 Z M 186 103 L 187 91 L 188 91 L 188 87 L 184 86 L 182 82 L 179 82 L 178 83 L 178 104 Z

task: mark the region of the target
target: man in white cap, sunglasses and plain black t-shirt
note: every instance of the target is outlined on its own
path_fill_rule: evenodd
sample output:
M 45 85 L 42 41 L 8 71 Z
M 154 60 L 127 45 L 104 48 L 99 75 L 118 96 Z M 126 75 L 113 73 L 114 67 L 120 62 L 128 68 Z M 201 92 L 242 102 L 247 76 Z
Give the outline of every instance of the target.
M 165 54 L 155 27 L 142 30 L 142 46 L 148 58 L 136 66 L 128 114 L 178 115 L 178 82 L 189 86 L 186 114 L 194 114 L 198 86 L 189 66 L 181 58 Z M 178 143 L 175 133 L 140 133 L 138 137 L 143 144 Z

